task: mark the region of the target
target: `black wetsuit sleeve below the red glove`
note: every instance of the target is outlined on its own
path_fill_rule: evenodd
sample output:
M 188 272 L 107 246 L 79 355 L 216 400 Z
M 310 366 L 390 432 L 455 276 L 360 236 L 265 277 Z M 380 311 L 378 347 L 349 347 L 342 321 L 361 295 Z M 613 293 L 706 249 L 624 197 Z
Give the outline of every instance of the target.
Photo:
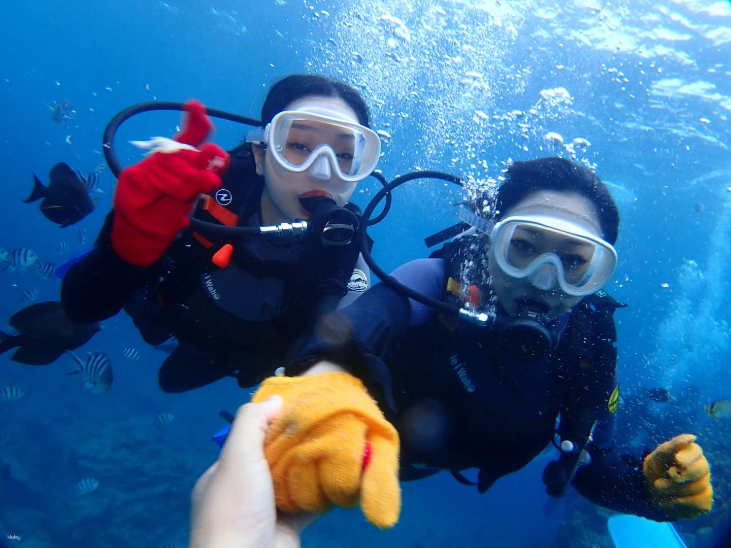
M 114 316 L 154 273 L 152 268 L 130 265 L 115 253 L 110 237 L 113 218 L 112 211 L 94 249 L 64 276 L 61 302 L 74 321 L 92 323 Z

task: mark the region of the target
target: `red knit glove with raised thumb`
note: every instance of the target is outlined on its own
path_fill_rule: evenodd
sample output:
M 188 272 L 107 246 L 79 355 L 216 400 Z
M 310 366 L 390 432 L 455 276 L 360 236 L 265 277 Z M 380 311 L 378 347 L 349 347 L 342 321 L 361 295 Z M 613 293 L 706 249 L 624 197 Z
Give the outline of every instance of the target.
M 185 104 L 183 131 L 175 140 L 197 147 L 213 123 L 200 102 Z M 209 143 L 200 151 L 156 152 L 119 175 L 114 194 L 112 247 L 132 265 L 147 267 L 164 254 L 182 229 L 198 194 L 221 186 L 229 155 Z

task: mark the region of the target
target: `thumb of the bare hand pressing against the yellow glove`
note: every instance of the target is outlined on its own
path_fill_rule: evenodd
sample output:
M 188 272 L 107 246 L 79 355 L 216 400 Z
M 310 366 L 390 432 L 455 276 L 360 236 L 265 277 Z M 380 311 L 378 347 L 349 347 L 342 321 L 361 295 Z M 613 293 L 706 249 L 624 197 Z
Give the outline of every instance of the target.
M 281 396 L 273 395 L 261 403 L 246 403 L 238 408 L 231 431 L 221 451 L 220 460 L 241 457 L 256 460 L 264 458 L 264 436 L 281 412 Z

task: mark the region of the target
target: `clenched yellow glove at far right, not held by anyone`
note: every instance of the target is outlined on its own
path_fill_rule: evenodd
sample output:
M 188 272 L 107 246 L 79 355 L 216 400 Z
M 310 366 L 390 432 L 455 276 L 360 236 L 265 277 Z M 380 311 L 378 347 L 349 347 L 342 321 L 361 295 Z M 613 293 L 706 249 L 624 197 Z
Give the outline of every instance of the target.
M 643 461 L 648 492 L 668 517 L 690 519 L 713 506 L 711 468 L 694 442 L 692 434 L 676 435 Z

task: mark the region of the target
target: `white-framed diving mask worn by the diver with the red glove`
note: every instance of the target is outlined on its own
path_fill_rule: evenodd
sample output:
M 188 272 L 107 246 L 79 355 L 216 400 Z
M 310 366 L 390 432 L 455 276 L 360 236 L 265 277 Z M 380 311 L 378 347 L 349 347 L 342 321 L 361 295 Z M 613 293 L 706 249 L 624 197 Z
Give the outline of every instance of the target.
M 356 183 L 376 169 L 381 140 L 372 129 L 346 118 L 320 107 L 284 110 L 246 140 L 264 142 L 274 161 L 290 172 L 303 172 L 325 159 L 336 177 Z

